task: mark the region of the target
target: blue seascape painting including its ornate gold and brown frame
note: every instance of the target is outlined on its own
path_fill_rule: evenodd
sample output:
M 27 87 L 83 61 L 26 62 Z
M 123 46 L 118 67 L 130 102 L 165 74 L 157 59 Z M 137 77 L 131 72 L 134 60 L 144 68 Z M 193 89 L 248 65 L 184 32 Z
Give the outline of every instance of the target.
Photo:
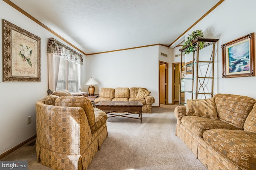
M 222 78 L 255 76 L 254 33 L 221 45 Z

